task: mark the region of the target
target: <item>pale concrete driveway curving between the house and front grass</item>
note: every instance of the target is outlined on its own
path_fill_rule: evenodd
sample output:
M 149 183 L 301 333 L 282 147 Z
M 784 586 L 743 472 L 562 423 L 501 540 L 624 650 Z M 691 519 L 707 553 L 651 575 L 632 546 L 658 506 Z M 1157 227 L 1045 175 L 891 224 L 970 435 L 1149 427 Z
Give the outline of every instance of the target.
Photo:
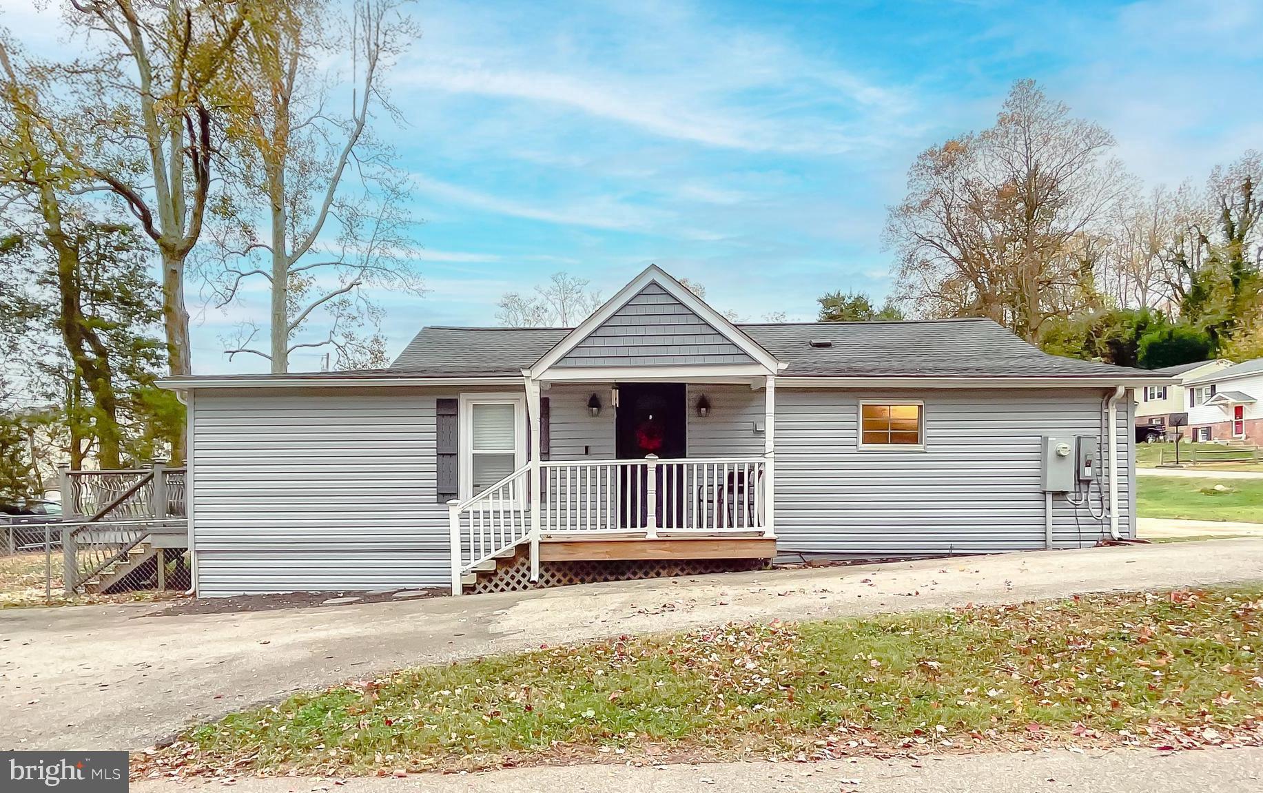
M 11 609 L 0 611 L 0 749 L 139 749 L 293 691 L 541 643 L 1249 580 L 1263 580 L 1263 538 L 241 614 Z

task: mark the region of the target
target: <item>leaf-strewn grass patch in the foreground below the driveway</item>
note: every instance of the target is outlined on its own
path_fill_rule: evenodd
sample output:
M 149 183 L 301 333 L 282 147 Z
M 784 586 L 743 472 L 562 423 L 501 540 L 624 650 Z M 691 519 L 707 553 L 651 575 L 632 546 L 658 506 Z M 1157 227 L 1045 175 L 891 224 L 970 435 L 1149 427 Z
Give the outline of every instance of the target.
M 1263 585 L 1086 596 L 495 655 L 229 716 L 139 773 L 820 758 L 1129 734 L 1221 742 L 1263 716 L 1260 599 Z

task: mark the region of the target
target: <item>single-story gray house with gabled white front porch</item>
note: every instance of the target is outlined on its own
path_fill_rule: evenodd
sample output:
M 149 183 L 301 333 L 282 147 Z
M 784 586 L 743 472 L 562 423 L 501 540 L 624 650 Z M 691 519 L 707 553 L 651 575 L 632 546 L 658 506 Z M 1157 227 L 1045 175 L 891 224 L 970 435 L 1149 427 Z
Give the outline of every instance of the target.
M 1171 383 L 988 319 L 734 325 L 650 266 L 575 328 L 163 385 L 188 405 L 195 586 L 221 596 L 1134 537 L 1132 391 Z

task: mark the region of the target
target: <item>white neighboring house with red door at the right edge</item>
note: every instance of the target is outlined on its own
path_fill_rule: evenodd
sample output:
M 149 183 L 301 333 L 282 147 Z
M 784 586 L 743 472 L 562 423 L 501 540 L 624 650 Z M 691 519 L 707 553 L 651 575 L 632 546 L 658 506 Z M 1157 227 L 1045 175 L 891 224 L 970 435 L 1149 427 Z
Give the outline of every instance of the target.
M 1263 359 L 1243 361 L 1185 384 L 1194 441 L 1263 444 Z

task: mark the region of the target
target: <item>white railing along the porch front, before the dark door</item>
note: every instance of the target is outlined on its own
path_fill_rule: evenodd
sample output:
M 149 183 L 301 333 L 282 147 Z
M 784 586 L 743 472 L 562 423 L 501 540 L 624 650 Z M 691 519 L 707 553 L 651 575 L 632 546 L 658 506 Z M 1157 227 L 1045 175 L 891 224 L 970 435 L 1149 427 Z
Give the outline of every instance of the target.
M 764 529 L 762 457 L 542 462 L 539 530 L 717 533 Z

